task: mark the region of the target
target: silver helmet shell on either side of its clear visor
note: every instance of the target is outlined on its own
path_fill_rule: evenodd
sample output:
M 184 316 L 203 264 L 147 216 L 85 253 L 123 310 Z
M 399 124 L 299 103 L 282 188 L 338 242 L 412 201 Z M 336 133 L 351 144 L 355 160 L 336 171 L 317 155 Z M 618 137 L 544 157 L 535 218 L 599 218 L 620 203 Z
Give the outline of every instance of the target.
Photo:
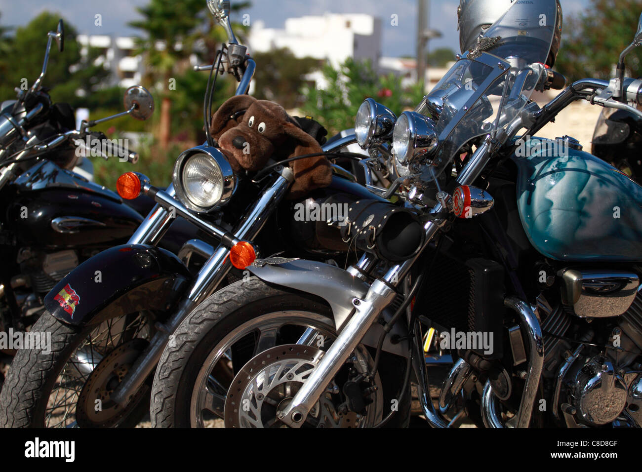
M 462 53 L 471 49 L 478 37 L 483 35 L 515 3 L 515 0 L 460 0 L 457 10 L 457 29 Z M 528 3 L 532 4 L 532 2 Z M 557 3 L 555 33 L 546 60 L 546 65 L 549 67 L 555 64 L 562 36 L 562 6 L 559 0 L 555 0 L 555 3 Z

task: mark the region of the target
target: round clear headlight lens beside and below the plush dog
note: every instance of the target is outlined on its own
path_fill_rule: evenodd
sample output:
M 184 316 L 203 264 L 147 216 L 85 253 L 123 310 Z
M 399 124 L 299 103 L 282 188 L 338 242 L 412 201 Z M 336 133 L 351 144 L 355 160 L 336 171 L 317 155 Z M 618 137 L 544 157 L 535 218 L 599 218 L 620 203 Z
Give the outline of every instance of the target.
M 185 195 L 199 207 L 213 207 L 223 196 L 223 173 L 206 154 L 187 159 L 182 172 Z

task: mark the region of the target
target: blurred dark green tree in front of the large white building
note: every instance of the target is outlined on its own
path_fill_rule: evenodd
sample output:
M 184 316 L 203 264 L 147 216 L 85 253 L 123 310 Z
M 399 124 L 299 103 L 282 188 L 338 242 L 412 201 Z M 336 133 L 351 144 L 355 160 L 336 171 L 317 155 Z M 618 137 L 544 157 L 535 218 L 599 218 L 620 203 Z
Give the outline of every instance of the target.
M 303 105 L 306 97 L 300 89 L 304 76 L 318 67 L 317 59 L 297 58 L 288 48 L 255 53 L 254 59 L 259 64 L 254 75 L 256 98 L 276 101 L 288 110 Z

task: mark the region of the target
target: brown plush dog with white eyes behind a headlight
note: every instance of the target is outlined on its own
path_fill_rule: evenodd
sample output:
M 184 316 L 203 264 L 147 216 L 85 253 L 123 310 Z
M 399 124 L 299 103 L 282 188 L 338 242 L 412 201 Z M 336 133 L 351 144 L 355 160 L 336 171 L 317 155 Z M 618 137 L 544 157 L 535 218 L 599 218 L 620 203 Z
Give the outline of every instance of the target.
M 299 155 L 321 153 L 321 146 L 291 122 L 286 111 L 273 101 L 238 95 L 225 101 L 212 118 L 210 133 L 235 171 L 258 171 L 272 157 L 282 161 Z M 288 198 L 303 197 L 332 179 L 330 162 L 323 156 L 290 162 L 294 183 Z

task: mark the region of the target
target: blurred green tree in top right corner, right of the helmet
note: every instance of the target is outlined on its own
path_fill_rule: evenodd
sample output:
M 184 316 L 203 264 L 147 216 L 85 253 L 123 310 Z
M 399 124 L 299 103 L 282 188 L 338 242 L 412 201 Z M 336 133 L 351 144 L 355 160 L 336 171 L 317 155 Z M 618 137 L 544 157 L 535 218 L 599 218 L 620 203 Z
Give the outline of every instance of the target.
M 612 78 L 621 51 L 638 27 L 640 0 L 591 0 L 591 6 L 564 19 L 562 47 L 555 67 L 571 81 Z M 627 76 L 642 74 L 642 48 L 627 57 Z

